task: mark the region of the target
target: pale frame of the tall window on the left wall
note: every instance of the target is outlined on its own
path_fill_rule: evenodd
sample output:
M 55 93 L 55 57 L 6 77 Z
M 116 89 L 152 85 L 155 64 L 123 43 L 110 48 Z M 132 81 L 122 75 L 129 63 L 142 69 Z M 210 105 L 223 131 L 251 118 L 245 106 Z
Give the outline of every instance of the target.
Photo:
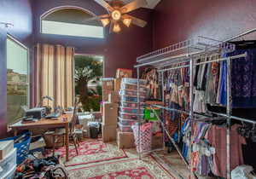
M 6 38 L 6 43 L 8 40 L 13 41 L 14 43 L 18 44 L 21 48 L 26 49 L 27 51 L 27 56 L 26 56 L 26 60 L 27 60 L 27 78 L 26 78 L 26 85 L 27 85 L 27 95 L 26 95 L 26 105 L 29 108 L 30 107 L 30 100 L 31 100 L 31 89 L 30 89 L 30 84 L 31 84 L 31 78 L 30 78 L 30 72 L 31 72 L 31 66 L 30 66 L 30 49 L 28 47 L 26 47 L 26 45 L 24 43 L 21 43 L 19 40 L 17 40 L 16 38 L 14 38 L 12 35 L 10 35 L 9 33 L 7 33 L 7 38 Z M 8 61 L 7 59 L 7 48 L 6 48 L 6 61 Z M 6 68 L 7 68 L 7 63 L 6 63 Z M 7 84 L 7 82 L 6 82 Z M 7 94 L 7 90 L 6 90 L 6 94 Z M 11 124 L 15 124 L 17 121 L 19 121 L 18 119 L 15 120 L 12 123 L 9 123 L 9 121 L 7 121 L 7 125 L 11 125 Z

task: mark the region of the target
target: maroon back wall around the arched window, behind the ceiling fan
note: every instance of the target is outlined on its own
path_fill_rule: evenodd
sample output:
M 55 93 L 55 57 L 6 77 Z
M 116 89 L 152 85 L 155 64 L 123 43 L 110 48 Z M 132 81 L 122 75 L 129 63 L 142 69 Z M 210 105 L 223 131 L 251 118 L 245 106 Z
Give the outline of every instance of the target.
M 133 68 L 136 57 L 152 50 L 151 10 L 138 9 L 133 14 L 148 21 L 148 26 L 141 28 L 131 26 L 119 34 L 106 33 L 105 39 L 75 38 L 40 33 L 40 15 L 49 9 L 60 6 L 78 6 L 94 14 L 106 14 L 106 11 L 94 1 L 81 0 L 33 0 L 34 43 L 59 43 L 75 47 L 76 53 L 104 55 L 105 76 L 114 77 L 116 68 Z

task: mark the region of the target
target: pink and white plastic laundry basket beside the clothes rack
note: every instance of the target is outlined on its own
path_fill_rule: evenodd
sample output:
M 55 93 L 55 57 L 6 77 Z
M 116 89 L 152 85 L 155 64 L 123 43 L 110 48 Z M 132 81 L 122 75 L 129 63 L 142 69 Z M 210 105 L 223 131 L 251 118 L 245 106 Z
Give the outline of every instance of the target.
M 132 125 L 132 130 L 137 147 L 137 153 L 150 153 L 152 143 L 152 124 L 142 124 L 140 127 L 140 136 L 138 135 L 139 125 Z

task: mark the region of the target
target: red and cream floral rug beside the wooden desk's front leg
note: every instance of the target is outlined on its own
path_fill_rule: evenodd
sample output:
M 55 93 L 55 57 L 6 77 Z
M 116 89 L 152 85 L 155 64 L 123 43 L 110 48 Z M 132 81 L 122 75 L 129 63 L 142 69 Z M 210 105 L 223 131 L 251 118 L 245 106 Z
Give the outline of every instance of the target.
M 115 143 L 103 143 L 102 140 L 88 140 L 79 142 L 79 155 L 74 146 L 69 147 L 69 161 L 66 161 L 66 148 L 60 147 L 55 154 L 61 155 L 66 166 L 87 165 L 113 159 L 127 158 L 124 150 L 119 149 Z

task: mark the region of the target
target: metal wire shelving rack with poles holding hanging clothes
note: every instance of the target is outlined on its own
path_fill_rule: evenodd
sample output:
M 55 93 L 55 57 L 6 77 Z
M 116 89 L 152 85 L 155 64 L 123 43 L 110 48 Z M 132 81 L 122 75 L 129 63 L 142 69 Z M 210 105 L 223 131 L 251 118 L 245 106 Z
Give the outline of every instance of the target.
M 164 49 L 158 49 L 146 55 L 141 55 L 137 57 L 137 79 L 140 78 L 140 68 L 144 66 L 154 66 L 160 72 L 161 84 L 164 84 L 164 72 L 172 71 L 174 69 L 189 67 L 189 111 L 182 111 L 177 110 L 175 108 L 168 108 L 168 107 L 161 107 L 152 105 L 151 109 L 154 111 L 153 107 L 159 107 L 160 109 L 167 110 L 167 111 L 175 111 L 177 113 L 186 113 L 189 114 L 189 118 L 193 122 L 194 118 L 207 118 L 209 116 L 203 114 L 196 114 L 193 111 L 193 104 L 194 104 L 194 73 L 195 73 L 195 66 L 201 66 L 203 64 L 212 63 L 213 61 L 203 61 L 203 62 L 196 62 L 198 59 L 207 59 L 209 55 L 216 55 L 217 58 L 214 58 L 214 61 L 227 61 L 227 106 L 226 106 L 226 113 L 214 113 L 220 117 L 226 118 L 227 124 L 227 178 L 230 179 L 230 124 L 231 119 L 240 120 L 247 123 L 256 124 L 255 121 L 247 118 L 239 118 L 236 116 L 231 115 L 232 110 L 232 99 L 231 99 L 231 61 L 243 58 L 247 56 L 247 53 L 241 55 L 234 55 L 226 58 L 221 57 L 222 52 L 232 52 L 236 49 L 236 46 L 232 43 L 221 42 L 218 40 L 214 40 L 212 38 L 206 37 L 196 37 L 185 40 L 180 43 L 172 44 Z M 137 80 L 137 87 L 139 87 L 139 80 Z M 139 88 L 137 88 L 139 89 Z M 162 88 L 162 96 L 164 95 L 164 88 Z M 137 99 L 139 99 L 139 91 L 137 91 Z M 164 97 L 162 97 L 162 101 L 164 101 Z M 138 101 L 140 102 L 140 101 Z M 164 103 L 165 104 L 165 103 Z M 140 112 L 140 105 L 138 105 L 138 112 Z M 154 112 L 155 113 L 155 112 Z M 172 139 L 172 136 L 168 133 L 168 130 L 165 128 L 165 124 L 160 119 L 160 117 L 155 113 L 157 118 L 159 119 L 166 136 L 172 141 L 174 147 L 177 147 L 175 141 Z M 192 122 L 189 126 L 189 141 L 191 146 L 191 135 L 192 135 Z M 141 121 L 140 121 L 141 125 Z M 140 130 L 138 130 L 140 131 Z M 140 136 L 140 134 L 138 134 Z M 140 142 L 139 142 L 140 145 Z M 189 147 L 189 153 L 191 153 L 191 147 Z M 178 153 L 181 155 L 178 147 Z M 139 152 L 139 157 L 141 159 L 143 153 Z M 191 177 L 195 176 L 192 171 L 191 164 L 187 163 L 185 159 L 183 159 L 184 163 L 188 165 L 190 170 Z

